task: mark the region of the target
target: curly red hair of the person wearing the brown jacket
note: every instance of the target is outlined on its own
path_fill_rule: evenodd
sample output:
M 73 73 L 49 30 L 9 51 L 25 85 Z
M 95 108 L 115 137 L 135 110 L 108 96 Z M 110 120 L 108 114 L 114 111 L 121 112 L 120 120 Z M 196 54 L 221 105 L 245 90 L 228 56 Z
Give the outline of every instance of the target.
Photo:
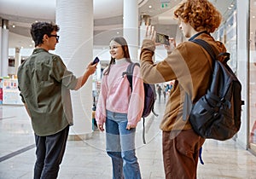
M 189 23 L 195 31 L 214 32 L 221 23 L 222 15 L 207 0 L 187 0 L 174 11 L 176 18 Z

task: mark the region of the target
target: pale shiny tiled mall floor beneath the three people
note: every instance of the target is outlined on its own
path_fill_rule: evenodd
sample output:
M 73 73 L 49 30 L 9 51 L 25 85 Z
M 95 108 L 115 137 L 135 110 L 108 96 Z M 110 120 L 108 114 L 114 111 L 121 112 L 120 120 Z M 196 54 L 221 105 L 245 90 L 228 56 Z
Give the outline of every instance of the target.
M 164 100 L 156 101 L 155 108 L 162 114 Z M 161 115 L 147 118 L 145 145 L 142 124 L 137 127 L 137 158 L 143 179 L 164 178 L 160 118 Z M 32 128 L 25 108 L 0 106 L 0 179 L 31 179 L 34 153 Z M 256 179 L 256 156 L 236 145 L 233 140 L 207 140 L 202 157 L 205 165 L 198 165 L 198 178 Z M 112 178 L 111 161 L 105 153 L 105 134 L 95 131 L 88 140 L 67 141 L 58 178 Z

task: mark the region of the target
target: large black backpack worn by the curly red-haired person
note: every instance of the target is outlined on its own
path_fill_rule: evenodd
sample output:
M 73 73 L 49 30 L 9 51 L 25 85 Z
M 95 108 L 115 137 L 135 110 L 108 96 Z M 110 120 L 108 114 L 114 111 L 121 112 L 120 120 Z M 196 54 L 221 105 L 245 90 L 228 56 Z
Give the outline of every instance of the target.
M 189 121 L 195 132 L 210 139 L 228 140 L 235 136 L 241 126 L 241 83 L 226 64 L 230 60 L 229 53 L 224 55 L 225 61 L 218 61 L 211 45 L 201 39 L 191 42 L 201 45 L 212 58 L 212 82 L 199 101 L 196 101 L 189 113 Z

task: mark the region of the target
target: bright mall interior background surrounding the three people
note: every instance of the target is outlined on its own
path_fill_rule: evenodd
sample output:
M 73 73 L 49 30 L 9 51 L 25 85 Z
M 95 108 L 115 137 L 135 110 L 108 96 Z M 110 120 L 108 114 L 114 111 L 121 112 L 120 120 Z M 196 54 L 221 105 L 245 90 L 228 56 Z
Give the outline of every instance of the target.
M 229 65 L 241 81 L 241 129 L 227 141 L 207 139 L 203 145 L 204 165 L 198 178 L 256 179 L 256 0 L 209 0 L 223 15 L 212 37 L 230 52 Z M 0 0 L 0 179 L 33 176 L 35 141 L 32 125 L 20 100 L 17 69 L 32 54 L 30 26 L 35 21 L 53 21 L 60 26 L 60 41 L 51 53 L 60 55 L 67 69 L 82 75 L 96 56 L 101 60 L 87 84 L 72 92 L 74 125 L 61 163 L 60 179 L 112 178 L 112 165 L 105 149 L 105 134 L 96 129 L 92 107 L 100 92 L 102 70 L 110 60 L 109 41 L 126 38 L 132 61 L 139 61 L 145 28 L 186 41 L 173 10 L 181 0 Z M 163 45 L 156 48 L 154 61 L 166 57 Z M 168 82 L 172 83 L 172 82 Z M 168 84 L 166 83 L 166 84 Z M 164 86 L 166 84 L 159 84 Z M 160 121 L 166 97 L 157 96 L 158 117 L 146 118 L 137 126 L 136 151 L 145 179 L 165 178 Z

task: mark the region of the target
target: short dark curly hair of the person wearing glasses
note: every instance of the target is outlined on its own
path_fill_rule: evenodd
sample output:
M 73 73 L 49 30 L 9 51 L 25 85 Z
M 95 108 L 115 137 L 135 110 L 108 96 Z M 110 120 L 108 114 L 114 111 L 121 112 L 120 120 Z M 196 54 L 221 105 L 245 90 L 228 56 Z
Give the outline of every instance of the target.
M 58 32 L 60 30 L 59 26 L 50 22 L 35 22 L 31 26 L 30 33 L 32 35 L 32 39 L 35 42 L 35 47 L 39 44 L 43 43 L 44 34 L 50 36 L 50 33 L 55 31 Z

